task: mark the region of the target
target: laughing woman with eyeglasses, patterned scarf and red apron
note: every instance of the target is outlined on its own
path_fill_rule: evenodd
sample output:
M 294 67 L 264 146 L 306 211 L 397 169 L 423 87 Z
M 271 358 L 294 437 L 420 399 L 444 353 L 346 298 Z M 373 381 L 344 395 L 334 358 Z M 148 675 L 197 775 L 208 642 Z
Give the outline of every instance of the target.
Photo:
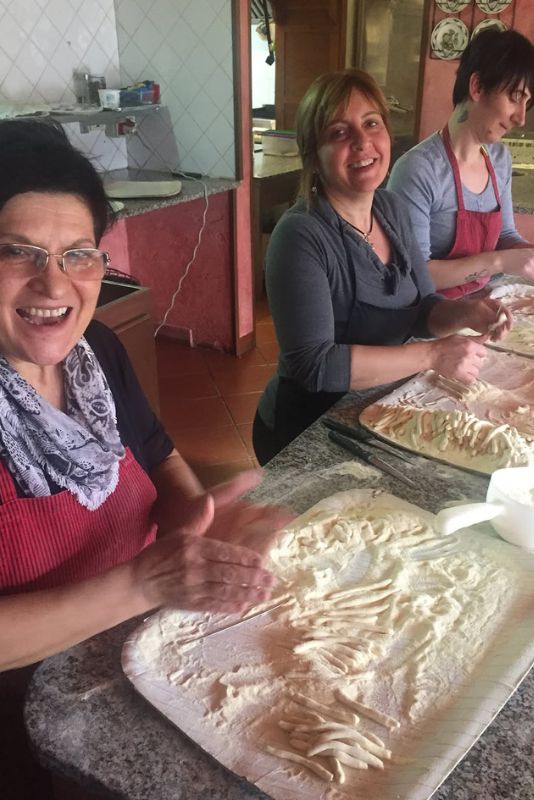
M 204 492 L 92 321 L 100 177 L 61 128 L 24 121 L 0 123 L 0 175 L 0 671 L 162 605 L 265 600 L 287 515 L 237 500 L 256 474 Z

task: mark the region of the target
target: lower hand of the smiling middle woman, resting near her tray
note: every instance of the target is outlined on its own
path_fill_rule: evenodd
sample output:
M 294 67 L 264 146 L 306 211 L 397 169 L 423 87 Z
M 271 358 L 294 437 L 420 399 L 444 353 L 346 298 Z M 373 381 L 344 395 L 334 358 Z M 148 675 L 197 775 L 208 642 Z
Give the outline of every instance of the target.
M 474 383 L 486 357 L 485 336 L 446 336 L 429 342 L 431 368 L 462 383 Z

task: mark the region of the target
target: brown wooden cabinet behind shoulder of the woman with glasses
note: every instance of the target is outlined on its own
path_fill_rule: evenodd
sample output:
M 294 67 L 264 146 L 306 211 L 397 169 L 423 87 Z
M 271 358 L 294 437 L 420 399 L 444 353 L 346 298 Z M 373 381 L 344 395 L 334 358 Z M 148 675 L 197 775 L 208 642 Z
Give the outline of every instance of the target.
M 148 402 L 158 414 L 158 370 L 150 289 L 103 281 L 94 318 L 119 337 Z

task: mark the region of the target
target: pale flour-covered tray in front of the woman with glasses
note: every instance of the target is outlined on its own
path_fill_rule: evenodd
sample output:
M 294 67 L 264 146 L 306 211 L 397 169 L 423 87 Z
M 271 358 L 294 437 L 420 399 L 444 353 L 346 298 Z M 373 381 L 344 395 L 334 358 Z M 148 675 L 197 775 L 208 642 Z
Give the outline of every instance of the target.
M 399 532 L 388 539 L 385 523 L 391 519 Z M 353 520 L 360 539 L 347 534 L 347 520 Z M 302 656 L 291 650 L 300 620 L 289 622 L 278 607 L 244 621 L 237 615 L 162 611 L 125 643 L 125 674 L 200 747 L 274 800 L 428 800 L 534 662 L 534 556 L 502 542 L 489 528 L 437 540 L 432 520 L 392 495 L 343 492 L 293 524 L 300 531 L 298 554 L 285 549 L 284 539 L 274 554 L 282 598 L 297 596 L 306 582 L 309 591 L 313 580 L 324 594 L 393 577 L 402 619 L 391 616 L 396 630 L 365 673 L 310 676 Z M 430 540 L 421 538 L 421 530 Z M 487 571 L 484 590 L 470 582 L 473 563 Z M 451 578 L 447 588 L 436 582 L 438 564 Z M 422 661 L 429 598 L 438 604 L 443 626 L 440 648 Z M 381 621 L 387 627 L 387 620 Z M 456 637 L 469 641 L 477 635 L 482 639 L 460 657 Z M 259 693 L 253 691 L 258 685 Z M 288 747 L 277 723 L 290 690 L 330 705 L 336 687 L 348 687 L 352 697 L 400 723 L 388 730 L 360 715 L 358 729 L 378 735 L 392 758 L 383 770 L 346 768 L 345 784 L 327 783 L 266 751 L 269 744 Z M 424 701 L 413 699 L 418 693 Z M 322 763 L 328 766 L 326 759 Z

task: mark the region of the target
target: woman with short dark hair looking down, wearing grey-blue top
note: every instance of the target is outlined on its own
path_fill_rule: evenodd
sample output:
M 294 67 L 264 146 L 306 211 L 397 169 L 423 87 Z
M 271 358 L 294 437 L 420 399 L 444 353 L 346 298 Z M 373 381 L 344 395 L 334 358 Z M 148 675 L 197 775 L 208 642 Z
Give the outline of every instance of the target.
M 534 93 L 534 47 L 517 31 L 477 34 L 460 59 L 444 128 L 396 162 L 388 189 L 408 204 L 436 288 L 481 289 L 506 272 L 534 278 L 534 246 L 516 230 L 512 161 L 501 139 L 525 124 Z

